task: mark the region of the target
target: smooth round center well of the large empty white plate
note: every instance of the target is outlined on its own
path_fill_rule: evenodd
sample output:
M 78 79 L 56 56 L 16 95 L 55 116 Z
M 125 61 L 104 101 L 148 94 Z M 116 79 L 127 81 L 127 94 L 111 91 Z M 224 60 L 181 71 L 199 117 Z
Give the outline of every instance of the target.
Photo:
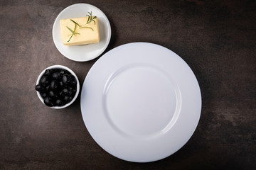
M 164 132 L 177 103 L 169 75 L 147 65 L 129 65 L 112 74 L 105 86 L 104 100 L 110 124 L 132 136 Z

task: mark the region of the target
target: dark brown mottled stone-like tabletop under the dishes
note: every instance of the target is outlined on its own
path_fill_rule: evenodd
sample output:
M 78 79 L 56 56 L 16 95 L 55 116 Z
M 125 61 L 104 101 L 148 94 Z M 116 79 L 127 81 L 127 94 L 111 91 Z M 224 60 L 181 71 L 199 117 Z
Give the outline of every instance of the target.
M 78 2 L 0 1 L 0 169 L 256 169 L 255 1 L 85 1 L 110 20 L 106 51 L 127 42 L 163 45 L 201 86 L 201 120 L 191 140 L 146 164 L 101 149 L 82 121 L 80 98 L 54 110 L 36 96 L 46 67 L 68 66 L 82 85 L 97 61 L 73 62 L 53 44 L 55 18 Z

